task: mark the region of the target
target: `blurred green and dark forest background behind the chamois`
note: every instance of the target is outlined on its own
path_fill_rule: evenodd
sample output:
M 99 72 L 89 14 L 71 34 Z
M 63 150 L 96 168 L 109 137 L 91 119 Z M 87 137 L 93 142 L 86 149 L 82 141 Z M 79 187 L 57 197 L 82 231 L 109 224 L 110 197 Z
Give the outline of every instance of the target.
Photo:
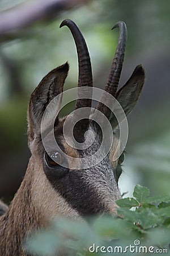
M 103 88 L 116 48 L 114 23 L 124 20 L 128 43 L 120 86 L 138 64 L 146 84 L 129 115 L 126 160 L 119 185 L 151 195 L 170 194 L 170 2 L 159 0 L 1 0 L 0 1 L 0 198 L 10 201 L 27 168 L 27 104 L 51 69 L 65 63 L 65 89 L 78 80 L 75 45 L 63 19 L 73 19 L 91 55 L 94 86 Z

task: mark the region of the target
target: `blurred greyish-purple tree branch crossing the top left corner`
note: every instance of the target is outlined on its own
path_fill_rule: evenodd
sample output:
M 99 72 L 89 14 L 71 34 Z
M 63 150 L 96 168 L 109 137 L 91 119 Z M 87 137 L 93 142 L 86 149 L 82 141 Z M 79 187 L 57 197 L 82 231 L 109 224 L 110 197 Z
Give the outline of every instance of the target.
M 0 13 L 0 36 L 11 38 L 24 27 L 46 18 L 53 18 L 63 10 L 87 3 L 89 0 L 37 0 Z M 14 36 L 15 37 L 15 36 Z

